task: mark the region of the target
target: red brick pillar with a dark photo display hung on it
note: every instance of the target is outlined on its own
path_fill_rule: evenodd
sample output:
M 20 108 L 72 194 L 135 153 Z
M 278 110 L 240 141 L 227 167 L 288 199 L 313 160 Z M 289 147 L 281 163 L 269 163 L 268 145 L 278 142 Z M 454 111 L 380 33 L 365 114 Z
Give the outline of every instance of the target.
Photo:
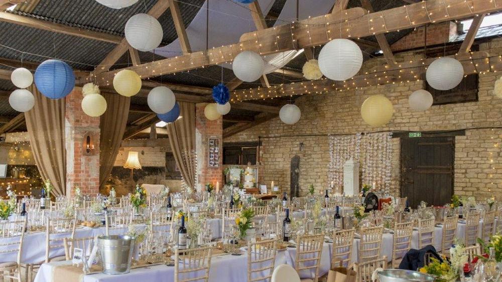
M 197 151 L 197 176 L 198 185 L 204 189 L 206 183 L 216 186 L 219 181 L 220 188 L 223 187 L 223 118 L 208 120 L 204 116 L 204 108 L 207 103 L 195 105 L 195 148 Z M 217 138 L 219 141 L 219 167 L 209 167 L 208 139 Z

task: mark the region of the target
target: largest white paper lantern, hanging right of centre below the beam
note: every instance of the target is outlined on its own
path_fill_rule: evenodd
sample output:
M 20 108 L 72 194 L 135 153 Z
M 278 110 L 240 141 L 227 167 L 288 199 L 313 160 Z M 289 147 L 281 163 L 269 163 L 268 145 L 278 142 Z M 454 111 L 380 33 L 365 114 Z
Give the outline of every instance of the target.
M 319 69 L 331 79 L 347 80 L 361 69 L 362 52 L 357 44 L 348 39 L 335 39 L 328 42 L 319 53 Z

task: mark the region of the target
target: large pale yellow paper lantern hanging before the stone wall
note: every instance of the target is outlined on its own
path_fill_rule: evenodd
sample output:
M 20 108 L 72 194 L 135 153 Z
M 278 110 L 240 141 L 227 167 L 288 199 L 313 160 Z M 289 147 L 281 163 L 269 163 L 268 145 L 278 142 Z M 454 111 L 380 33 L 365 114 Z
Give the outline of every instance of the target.
M 361 106 L 361 117 L 365 123 L 371 126 L 387 124 L 394 114 L 392 102 L 384 95 L 369 96 Z

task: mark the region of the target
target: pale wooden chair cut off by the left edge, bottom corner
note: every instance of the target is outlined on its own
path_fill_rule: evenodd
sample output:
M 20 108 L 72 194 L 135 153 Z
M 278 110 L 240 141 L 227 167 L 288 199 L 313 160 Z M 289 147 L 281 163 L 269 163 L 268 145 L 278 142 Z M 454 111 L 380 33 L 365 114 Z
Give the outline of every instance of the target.
M 10 281 L 15 279 L 21 282 L 21 254 L 26 224 L 26 219 L 0 223 L 0 281 L 9 278 Z M 4 260 L 9 253 L 17 253 L 16 261 Z

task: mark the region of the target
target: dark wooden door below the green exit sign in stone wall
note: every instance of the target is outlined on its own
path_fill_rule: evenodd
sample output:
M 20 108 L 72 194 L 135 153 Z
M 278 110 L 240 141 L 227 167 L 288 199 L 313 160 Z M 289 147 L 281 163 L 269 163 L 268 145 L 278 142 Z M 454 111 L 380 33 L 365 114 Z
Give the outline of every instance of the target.
M 401 139 L 401 197 L 410 206 L 451 202 L 454 184 L 455 137 Z

